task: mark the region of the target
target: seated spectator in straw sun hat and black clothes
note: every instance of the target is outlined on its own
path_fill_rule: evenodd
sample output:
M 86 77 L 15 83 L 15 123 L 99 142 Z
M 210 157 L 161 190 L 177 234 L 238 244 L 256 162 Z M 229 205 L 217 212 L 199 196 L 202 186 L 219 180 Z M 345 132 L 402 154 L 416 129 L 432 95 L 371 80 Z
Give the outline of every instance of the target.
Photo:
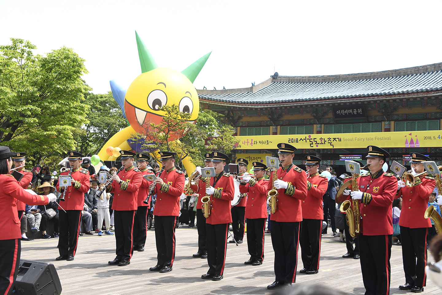
M 53 193 L 55 188 L 50 185 L 49 182 L 44 182 L 42 185 L 38 187 L 38 192 L 40 195 L 49 195 Z M 52 220 L 54 222 L 54 238 L 58 238 L 58 226 L 60 219 L 57 213 L 58 204 L 55 202 L 49 202 L 47 205 L 38 205 L 38 210 L 40 210 L 42 214 L 42 222 L 40 224 L 40 230 L 42 231 L 43 238 L 49 239 L 51 236 L 46 233 L 46 227 L 48 224 L 48 220 Z

